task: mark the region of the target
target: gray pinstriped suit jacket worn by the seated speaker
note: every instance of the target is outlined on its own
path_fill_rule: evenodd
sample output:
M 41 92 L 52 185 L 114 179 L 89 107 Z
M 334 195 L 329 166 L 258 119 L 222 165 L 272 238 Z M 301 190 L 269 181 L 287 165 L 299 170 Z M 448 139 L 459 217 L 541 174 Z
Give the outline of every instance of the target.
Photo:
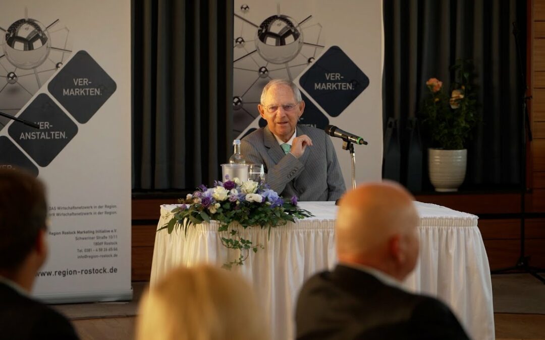
M 302 134 L 312 139 L 312 146 L 299 159 L 284 154 L 268 127 L 244 137 L 240 151 L 248 162 L 264 165 L 265 182 L 284 199 L 296 195 L 301 201 L 335 201 L 346 187 L 333 143 L 314 127 L 298 125 L 297 135 Z

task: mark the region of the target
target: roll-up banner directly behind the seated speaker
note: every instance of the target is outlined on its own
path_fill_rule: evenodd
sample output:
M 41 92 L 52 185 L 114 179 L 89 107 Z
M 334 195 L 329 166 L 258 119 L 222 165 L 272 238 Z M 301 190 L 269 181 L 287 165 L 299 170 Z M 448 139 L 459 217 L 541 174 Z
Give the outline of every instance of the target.
M 383 152 L 381 0 L 234 1 L 235 137 L 267 125 L 257 104 L 271 79 L 287 78 L 306 103 L 300 124 L 337 126 L 355 145 L 356 182 L 381 178 Z M 333 138 L 347 188 L 352 160 Z

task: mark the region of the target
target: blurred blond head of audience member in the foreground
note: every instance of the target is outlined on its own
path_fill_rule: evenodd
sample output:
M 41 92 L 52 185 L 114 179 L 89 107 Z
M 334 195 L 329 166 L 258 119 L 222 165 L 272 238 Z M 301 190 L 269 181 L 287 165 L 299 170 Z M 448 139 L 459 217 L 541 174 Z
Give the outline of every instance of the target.
M 140 303 L 137 340 L 269 338 L 250 285 L 225 269 L 210 265 L 174 269 Z

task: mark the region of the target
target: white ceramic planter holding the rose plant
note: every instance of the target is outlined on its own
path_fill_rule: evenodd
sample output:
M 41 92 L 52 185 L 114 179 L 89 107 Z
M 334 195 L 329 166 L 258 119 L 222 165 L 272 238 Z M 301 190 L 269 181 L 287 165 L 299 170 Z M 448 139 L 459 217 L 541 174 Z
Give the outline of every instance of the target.
M 429 180 L 435 191 L 458 191 L 464 182 L 467 159 L 467 149 L 428 149 Z

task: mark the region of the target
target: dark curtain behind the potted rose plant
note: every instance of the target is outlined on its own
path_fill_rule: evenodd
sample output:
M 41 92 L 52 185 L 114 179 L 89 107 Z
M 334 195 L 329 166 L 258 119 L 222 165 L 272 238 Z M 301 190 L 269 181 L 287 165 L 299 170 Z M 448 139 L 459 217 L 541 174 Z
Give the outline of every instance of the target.
M 449 88 L 453 79 L 450 65 L 463 58 L 474 61 L 482 123 L 468 145 L 468 171 L 462 189 L 507 188 L 520 183 L 520 98 L 524 85 L 519 74 L 512 23 L 516 22 L 520 31 L 520 52 L 525 67 L 526 2 L 384 0 L 383 4 L 383 118 L 385 130 L 389 119 L 390 125 L 397 126 L 394 133 L 397 133 L 399 146 L 391 148 L 393 153 L 385 150 L 385 160 L 389 160 L 384 163 L 385 177 L 413 191 L 431 189 L 426 135 L 421 133 L 420 154 L 416 152 L 415 156 L 414 149 L 410 150 L 410 144 L 414 145 L 411 138 L 414 136 L 410 134 L 414 132 L 414 118 L 419 124 L 420 103 L 427 94 L 426 80 L 439 78 Z M 392 133 L 391 129 L 387 132 Z M 420 174 L 414 171 L 411 157 L 420 157 Z

